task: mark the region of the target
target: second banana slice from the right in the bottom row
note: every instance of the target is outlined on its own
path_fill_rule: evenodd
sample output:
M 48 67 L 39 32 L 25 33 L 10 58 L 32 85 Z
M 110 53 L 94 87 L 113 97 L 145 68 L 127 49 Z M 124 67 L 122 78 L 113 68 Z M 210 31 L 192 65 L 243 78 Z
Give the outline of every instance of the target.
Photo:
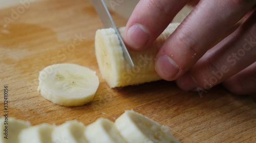
M 90 143 L 126 143 L 114 123 L 105 118 L 100 118 L 90 124 L 84 134 Z

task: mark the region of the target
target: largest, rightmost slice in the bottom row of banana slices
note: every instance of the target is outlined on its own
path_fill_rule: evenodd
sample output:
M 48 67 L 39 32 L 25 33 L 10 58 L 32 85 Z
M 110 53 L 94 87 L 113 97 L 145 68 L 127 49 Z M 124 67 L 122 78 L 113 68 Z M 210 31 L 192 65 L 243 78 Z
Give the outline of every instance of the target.
M 116 121 L 115 126 L 123 138 L 129 142 L 180 142 L 168 127 L 144 117 L 133 110 L 125 111 Z

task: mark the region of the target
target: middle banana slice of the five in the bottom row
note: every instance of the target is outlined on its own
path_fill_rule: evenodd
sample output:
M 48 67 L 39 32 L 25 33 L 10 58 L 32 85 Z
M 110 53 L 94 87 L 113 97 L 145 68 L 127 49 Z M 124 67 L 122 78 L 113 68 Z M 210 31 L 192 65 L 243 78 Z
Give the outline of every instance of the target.
M 86 127 L 77 121 L 69 121 L 65 124 L 57 126 L 52 132 L 52 140 L 54 143 L 87 143 L 87 139 L 83 132 Z

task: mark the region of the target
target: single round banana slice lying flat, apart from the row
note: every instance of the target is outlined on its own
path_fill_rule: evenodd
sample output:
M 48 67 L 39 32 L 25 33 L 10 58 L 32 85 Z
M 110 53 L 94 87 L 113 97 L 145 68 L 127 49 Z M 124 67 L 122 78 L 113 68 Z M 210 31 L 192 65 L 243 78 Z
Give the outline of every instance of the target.
M 99 87 L 96 72 L 75 64 L 56 64 L 39 72 L 41 96 L 63 106 L 91 102 Z

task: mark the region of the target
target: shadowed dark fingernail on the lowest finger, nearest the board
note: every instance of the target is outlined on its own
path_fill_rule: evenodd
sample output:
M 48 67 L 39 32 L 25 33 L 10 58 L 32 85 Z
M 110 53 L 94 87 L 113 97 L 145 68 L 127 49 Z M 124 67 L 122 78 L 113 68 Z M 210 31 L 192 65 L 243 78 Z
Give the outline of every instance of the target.
M 185 73 L 183 76 L 176 80 L 176 84 L 183 91 L 194 91 L 197 89 L 196 79 L 189 73 Z

